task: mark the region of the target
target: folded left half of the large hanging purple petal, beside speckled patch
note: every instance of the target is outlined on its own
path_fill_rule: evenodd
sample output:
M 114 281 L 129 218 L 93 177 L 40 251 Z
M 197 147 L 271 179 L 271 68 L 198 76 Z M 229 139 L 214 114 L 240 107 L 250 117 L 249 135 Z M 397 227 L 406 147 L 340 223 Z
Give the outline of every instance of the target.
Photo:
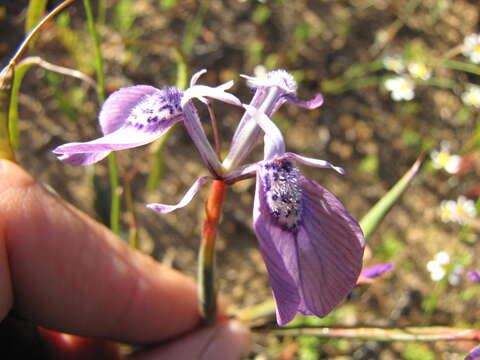
M 295 317 L 300 304 L 296 241 L 272 218 L 264 190 L 265 183 L 257 172 L 253 226 L 275 298 L 277 322 L 284 325 Z

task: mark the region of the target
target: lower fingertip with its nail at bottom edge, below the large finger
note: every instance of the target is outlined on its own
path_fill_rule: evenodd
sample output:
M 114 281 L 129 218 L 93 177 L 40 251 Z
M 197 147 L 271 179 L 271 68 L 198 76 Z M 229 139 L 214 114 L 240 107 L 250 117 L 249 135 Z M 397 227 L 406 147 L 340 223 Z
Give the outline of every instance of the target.
M 128 360 L 239 360 L 248 355 L 250 343 L 248 328 L 238 321 L 229 321 L 135 354 Z

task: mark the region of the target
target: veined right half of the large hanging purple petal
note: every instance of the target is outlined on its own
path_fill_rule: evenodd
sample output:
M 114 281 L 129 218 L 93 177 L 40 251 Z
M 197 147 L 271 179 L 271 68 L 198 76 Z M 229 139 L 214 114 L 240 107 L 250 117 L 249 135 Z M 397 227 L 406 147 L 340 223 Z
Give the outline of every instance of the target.
M 358 223 L 332 193 L 303 176 L 300 182 L 299 311 L 323 317 L 355 287 L 365 239 Z

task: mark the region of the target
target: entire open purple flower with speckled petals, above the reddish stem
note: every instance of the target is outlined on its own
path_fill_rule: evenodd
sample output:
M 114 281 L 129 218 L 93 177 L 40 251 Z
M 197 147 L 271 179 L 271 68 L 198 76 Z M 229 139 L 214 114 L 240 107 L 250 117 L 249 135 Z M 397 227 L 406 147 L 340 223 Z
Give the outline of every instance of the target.
M 362 266 L 365 239 L 358 223 L 327 189 L 303 176 L 295 162 L 319 168 L 343 169 L 324 160 L 285 151 L 283 135 L 270 117 L 285 102 L 313 109 L 323 103 L 296 98 L 296 83 L 283 70 L 263 78 L 245 76 L 254 87 L 250 105 L 233 136 L 223 163 L 213 151 L 195 110 L 193 98 L 206 97 L 240 105 L 225 90 L 195 85 L 204 71 L 192 77 L 189 89 L 156 89 L 133 86 L 113 93 L 100 112 L 103 137 L 86 143 L 70 143 L 54 150 L 60 159 L 88 165 L 111 151 L 147 144 L 162 136 L 174 123 L 183 121 L 211 176 L 195 181 L 176 205 L 149 204 L 168 213 L 186 206 L 209 179 L 228 184 L 256 177 L 253 224 L 267 267 L 280 325 L 297 313 L 326 316 L 355 287 Z M 264 138 L 264 159 L 242 165 L 254 146 Z

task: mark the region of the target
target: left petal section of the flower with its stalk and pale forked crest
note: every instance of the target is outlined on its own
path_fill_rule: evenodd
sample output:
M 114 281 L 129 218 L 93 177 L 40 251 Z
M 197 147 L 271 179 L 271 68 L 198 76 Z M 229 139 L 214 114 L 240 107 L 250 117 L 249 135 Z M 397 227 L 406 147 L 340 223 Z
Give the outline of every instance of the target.
M 111 151 L 134 148 L 148 144 L 161 137 L 171 126 L 183 121 L 192 141 L 209 168 L 217 175 L 221 164 L 215 155 L 200 119 L 192 103 L 206 97 L 230 104 L 240 101 L 225 92 L 233 82 L 217 87 L 196 85 L 206 70 L 193 75 L 190 87 L 180 91 L 175 87 L 157 89 L 153 86 L 137 85 L 125 87 L 112 93 L 102 106 L 99 115 L 103 137 L 84 142 L 64 144 L 53 150 L 59 159 L 71 165 L 90 165 L 105 158 Z

